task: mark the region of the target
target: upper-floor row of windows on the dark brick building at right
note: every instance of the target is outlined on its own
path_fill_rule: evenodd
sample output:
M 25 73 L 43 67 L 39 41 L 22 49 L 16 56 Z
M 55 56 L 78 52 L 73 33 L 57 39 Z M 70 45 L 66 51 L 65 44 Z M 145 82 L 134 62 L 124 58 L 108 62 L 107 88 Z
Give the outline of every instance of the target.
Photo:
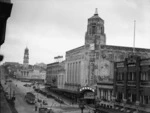
M 124 80 L 124 76 L 125 76 L 124 72 L 118 72 L 116 74 L 116 79 L 118 81 L 122 81 L 122 80 Z M 128 72 L 127 80 L 136 81 L 136 72 Z M 148 72 L 141 72 L 140 80 L 149 81 L 150 80 L 150 74 Z

